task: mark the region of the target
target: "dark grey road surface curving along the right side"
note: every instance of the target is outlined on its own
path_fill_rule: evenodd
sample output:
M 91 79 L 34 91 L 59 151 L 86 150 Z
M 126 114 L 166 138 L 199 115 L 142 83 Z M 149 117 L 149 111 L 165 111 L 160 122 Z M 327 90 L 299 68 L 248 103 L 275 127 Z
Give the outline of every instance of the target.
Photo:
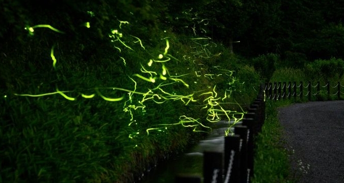
M 344 101 L 279 108 L 300 182 L 344 182 Z

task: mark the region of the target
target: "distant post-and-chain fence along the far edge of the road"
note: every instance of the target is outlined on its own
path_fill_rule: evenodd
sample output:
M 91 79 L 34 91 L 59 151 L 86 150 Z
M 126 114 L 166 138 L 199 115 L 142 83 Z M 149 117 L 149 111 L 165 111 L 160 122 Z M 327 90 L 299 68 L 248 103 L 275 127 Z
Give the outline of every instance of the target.
M 325 85 L 320 82 L 313 85 L 310 81 L 305 82 L 305 84 L 303 81 L 265 83 L 265 95 L 267 100 L 303 99 L 304 97 L 307 97 L 309 101 L 340 100 L 341 94 L 344 94 L 342 92 L 344 86 L 340 82 L 332 85 L 329 81 Z

